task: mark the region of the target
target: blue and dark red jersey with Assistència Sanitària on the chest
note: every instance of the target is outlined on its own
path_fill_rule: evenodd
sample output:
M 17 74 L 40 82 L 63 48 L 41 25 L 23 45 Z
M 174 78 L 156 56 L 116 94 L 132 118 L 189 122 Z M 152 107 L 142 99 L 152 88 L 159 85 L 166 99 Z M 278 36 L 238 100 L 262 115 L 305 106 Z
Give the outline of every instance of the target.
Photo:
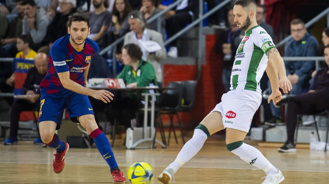
M 92 57 L 98 52 L 96 42 L 87 38 L 83 49 L 74 49 L 70 35 L 59 38 L 49 51 L 48 71 L 40 83 L 40 94 L 62 93 L 67 91 L 57 73 L 70 72 L 70 79 L 85 86 L 84 73 Z

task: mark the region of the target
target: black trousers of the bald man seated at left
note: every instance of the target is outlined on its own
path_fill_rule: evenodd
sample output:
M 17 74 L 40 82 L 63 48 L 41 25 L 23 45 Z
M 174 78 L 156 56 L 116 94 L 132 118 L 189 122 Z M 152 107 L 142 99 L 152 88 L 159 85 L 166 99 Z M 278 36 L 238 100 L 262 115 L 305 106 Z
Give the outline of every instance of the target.
M 10 137 L 17 137 L 20 113 L 36 110 L 39 106 L 40 102 L 32 103 L 28 100 L 17 100 L 12 104 L 10 110 Z

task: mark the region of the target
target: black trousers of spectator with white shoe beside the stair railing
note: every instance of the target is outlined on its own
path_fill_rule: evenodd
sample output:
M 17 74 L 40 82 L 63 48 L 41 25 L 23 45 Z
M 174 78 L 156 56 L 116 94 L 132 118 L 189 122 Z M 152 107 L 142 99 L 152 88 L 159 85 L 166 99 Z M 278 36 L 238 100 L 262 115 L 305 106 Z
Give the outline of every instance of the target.
M 192 22 L 192 16 L 188 12 L 179 12 L 166 20 L 165 29 L 168 34 L 168 38 L 178 33 L 186 24 Z M 171 47 L 177 47 L 177 39 L 169 43 Z

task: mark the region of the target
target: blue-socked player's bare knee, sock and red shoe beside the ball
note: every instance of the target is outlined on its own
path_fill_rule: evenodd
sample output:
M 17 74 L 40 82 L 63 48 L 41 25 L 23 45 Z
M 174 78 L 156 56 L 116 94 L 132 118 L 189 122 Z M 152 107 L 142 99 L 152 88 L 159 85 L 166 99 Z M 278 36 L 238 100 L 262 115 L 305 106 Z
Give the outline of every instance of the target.
M 94 143 L 101 155 L 103 156 L 104 160 L 110 166 L 114 182 L 124 183 L 126 181 L 126 178 L 123 176 L 123 173 L 120 171 L 116 163 L 109 139 L 98 128 L 94 115 L 87 114 L 80 116 L 78 117 L 78 121 L 80 122 L 82 127 L 87 130 L 89 136 L 94 140 Z

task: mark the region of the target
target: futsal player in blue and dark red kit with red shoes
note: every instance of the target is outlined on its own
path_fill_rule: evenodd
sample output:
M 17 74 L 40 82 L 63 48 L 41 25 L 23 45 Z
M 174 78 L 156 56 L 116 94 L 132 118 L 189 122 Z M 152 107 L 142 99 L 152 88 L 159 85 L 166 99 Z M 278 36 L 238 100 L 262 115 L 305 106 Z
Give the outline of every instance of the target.
M 56 29 L 56 28 L 54 28 Z M 113 183 L 125 183 L 109 140 L 98 128 L 88 95 L 110 103 L 113 94 L 106 90 L 85 87 L 89 63 L 98 52 L 98 45 L 87 38 L 90 33 L 89 17 L 83 13 L 69 16 L 68 35 L 54 42 L 49 51 L 48 72 L 40 84 L 39 129 L 42 141 L 56 153 L 53 170 L 60 173 L 69 145 L 61 141 L 55 130 L 61 127 L 63 111 L 67 107 L 73 122 L 80 123 L 94 140 L 95 145 L 108 163 Z

